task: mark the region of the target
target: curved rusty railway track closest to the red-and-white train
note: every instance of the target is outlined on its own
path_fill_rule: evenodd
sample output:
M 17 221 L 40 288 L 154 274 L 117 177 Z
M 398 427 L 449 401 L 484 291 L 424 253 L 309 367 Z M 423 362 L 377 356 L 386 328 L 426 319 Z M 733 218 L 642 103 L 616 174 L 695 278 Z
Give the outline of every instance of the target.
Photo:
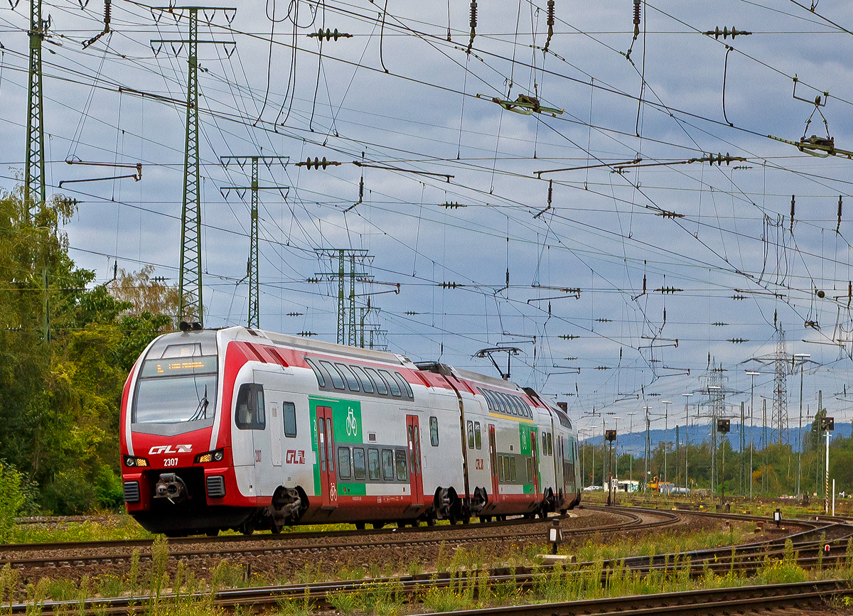
M 592 534 L 595 532 L 619 532 L 666 526 L 680 520 L 678 514 L 668 511 L 614 511 L 609 512 L 624 518 L 624 521 L 600 526 L 564 529 L 564 537 Z M 560 516 L 562 517 L 562 516 Z M 431 526 L 412 529 L 383 529 L 380 531 L 305 532 L 287 535 L 261 535 L 255 537 L 226 538 L 183 538 L 171 539 L 169 557 L 174 560 L 222 559 L 236 556 L 285 556 L 299 553 L 320 553 L 332 550 L 363 550 L 374 548 L 403 547 L 416 549 L 442 541 L 455 544 L 481 543 L 488 541 L 529 540 L 545 538 L 544 528 L 535 528 L 508 534 L 512 526 L 544 526 L 543 522 L 554 520 L 510 520 L 502 523 L 486 523 L 461 526 Z M 480 532 L 480 531 L 496 532 Z M 450 532 L 449 532 L 450 531 Z M 476 532 L 472 532 L 476 531 Z M 329 542 L 329 538 L 345 538 L 346 541 Z M 151 540 L 41 543 L 5 545 L 0 548 L 0 566 L 31 569 L 41 567 L 85 567 L 90 565 L 124 564 L 131 561 L 133 550 L 140 550 L 141 562 L 151 560 Z M 143 551 L 145 550 L 145 551 Z M 49 555 L 38 555 L 49 552 Z M 18 556 L 17 554 L 26 554 Z M 37 553 L 36 555 L 30 555 Z

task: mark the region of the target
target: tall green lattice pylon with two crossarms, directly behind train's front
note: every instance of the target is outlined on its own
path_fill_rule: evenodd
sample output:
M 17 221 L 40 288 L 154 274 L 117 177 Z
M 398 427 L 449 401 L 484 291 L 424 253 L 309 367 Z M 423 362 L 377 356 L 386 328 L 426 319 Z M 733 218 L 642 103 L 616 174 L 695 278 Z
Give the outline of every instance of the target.
M 160 13 L 154 13 L 160 11 Z M 189 74 L 187 77 L 187 125 L 183 154 L 183 205 L 181 207 L 181 264 L 178 274 L 177 317 L 181 321 L 204 323 L 204 305 L 201 299 L 201 190 L 199 173 L 199 44 L 235 45 L 234 40 L 199 40 L 199 11 L 204 15 L 208 24 L 214 15 L 223 13 L 230 23 L 237 11 L 235 8 L 220 7 L 152 7 L 151 13 L 155 20 L 158 15 L 169 13 L 175 20 L 184 16 L 189 19 L 187 38 L 157 38 L 152 39 L 151 48 L 156 55 L 163 44 L 171 44 L 178 49 L 187 45 Z M 155 48 L 154 45 L 159 44 Z M 233 48 L 232 48 L 233 52 Z M 228 53 L 226 49 L 226 53 Z M 177 52 L 176 52 L 177 55 Z M 230 55 L 230 54 L 229 54 Z

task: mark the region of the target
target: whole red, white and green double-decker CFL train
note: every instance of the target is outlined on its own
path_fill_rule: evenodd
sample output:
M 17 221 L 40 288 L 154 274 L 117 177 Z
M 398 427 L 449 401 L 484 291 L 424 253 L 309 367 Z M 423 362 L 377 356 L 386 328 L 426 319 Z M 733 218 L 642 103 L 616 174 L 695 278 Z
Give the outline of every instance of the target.
M 257 329 L 154 340 L 125 383 L 120 425 L 127 510 L 171 536 L 580 502 L 572 422 L 532 389 Z

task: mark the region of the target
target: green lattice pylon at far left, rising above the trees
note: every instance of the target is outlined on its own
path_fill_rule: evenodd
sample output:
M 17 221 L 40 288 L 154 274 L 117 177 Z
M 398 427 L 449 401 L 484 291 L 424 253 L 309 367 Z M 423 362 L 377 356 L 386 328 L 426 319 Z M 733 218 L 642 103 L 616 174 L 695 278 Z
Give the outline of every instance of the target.
M 44 189 L 44 107 L 42 104 L 42 41 L 50 20 L 42 20 L 42 0 L 30 2 L 29 90 L 26 95 L 26 159 L 24 210 L 26 221 L 35 218 L 46 200 Z

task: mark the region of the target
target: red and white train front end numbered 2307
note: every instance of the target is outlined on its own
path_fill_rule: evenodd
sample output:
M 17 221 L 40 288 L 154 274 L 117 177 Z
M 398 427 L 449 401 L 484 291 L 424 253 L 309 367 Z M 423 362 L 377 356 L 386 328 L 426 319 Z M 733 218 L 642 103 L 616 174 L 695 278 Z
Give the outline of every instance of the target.
M 216 332 L 165 334 L 142 353 L 125 383 L 125 505 L 150 532 L 212 534 L 239 526 L 251 513 L 223 506 L 234 473 L 230 448 L 217 447 L 220 363 Z

